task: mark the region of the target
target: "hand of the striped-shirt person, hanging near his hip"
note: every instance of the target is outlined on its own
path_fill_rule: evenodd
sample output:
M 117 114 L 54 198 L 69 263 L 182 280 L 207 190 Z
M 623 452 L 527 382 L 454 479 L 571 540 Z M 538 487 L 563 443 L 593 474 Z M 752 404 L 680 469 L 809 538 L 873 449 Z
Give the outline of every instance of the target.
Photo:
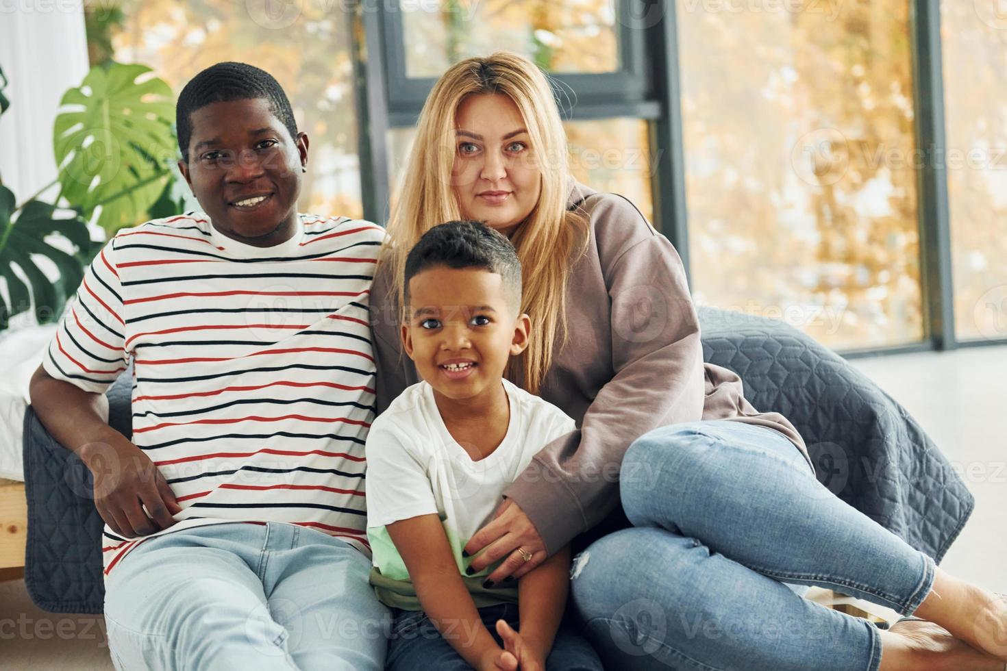
M 82 446 L 78 454 L 95 478 L 98 514 L 117 534 L 145 536 L 175 523 L 171 516 L 182 508 L 164 476 L 122 435 Z

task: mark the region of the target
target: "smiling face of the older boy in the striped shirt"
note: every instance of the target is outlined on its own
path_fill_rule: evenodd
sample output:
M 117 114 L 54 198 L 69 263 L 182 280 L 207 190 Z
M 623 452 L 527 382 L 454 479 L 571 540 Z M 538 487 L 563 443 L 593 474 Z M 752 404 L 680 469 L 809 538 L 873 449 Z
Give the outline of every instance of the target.
M 228 237 L 256 246 L 289 239 L 297 225 L 308 139 L 296 138 L 261 98 L 210 103 L 193 112 L 185 181 Z

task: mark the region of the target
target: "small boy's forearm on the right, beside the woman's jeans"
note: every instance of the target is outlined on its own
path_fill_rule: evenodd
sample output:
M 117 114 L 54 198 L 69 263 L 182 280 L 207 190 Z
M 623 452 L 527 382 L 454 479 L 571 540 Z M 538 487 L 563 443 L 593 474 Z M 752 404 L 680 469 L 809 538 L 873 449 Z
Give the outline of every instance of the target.
M 570 546 L 526 573 L 518 582 L 521 638 L 545 666 L 570 591 Z

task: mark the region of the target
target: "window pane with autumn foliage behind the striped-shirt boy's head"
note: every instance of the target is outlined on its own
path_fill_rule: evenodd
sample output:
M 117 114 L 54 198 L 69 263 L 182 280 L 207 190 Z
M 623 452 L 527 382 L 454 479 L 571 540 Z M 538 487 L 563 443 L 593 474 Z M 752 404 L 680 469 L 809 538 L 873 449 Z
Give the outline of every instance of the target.
M 113 55 L 152 67 L 176 96 L 222 60 L 270 72 L 311 141 L 300 210 L 362 216 L 349 17 L 320 3 L 282 6 L 277 13 L 263 0 L 125 0 L 125 18 L 112 31 Z M 89 37 L 94 42 L 97 35 Z

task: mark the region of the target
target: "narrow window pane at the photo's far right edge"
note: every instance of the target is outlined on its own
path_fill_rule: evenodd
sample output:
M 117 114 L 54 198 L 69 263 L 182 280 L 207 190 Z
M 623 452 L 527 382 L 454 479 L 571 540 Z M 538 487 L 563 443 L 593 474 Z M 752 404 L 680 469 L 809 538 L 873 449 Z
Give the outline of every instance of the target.
M 941 3 L 955 324 L 963 340 L 1007 338 L 1007 14 L 996 9 L 996 0 Z

